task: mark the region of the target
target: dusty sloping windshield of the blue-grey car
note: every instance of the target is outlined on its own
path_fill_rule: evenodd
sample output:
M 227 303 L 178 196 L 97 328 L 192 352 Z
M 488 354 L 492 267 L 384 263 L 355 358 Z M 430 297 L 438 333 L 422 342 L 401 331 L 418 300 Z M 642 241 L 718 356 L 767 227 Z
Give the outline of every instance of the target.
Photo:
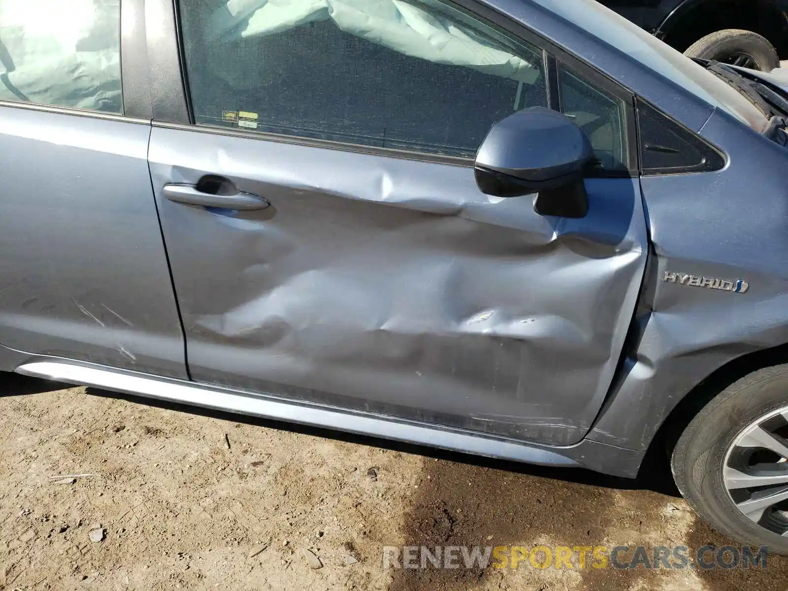
M 739 91 L 595 0 L 533 0 L 578 28 L 631 55 L 712 106 L 760 131 L 766 117 Z

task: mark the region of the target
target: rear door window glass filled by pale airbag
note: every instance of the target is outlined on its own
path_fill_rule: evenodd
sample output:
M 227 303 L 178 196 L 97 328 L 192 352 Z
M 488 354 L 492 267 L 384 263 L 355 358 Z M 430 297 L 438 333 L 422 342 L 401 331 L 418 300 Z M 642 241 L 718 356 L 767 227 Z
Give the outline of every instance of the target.
M 0 99 L 121 113 L 119 0 L 0 0 Z

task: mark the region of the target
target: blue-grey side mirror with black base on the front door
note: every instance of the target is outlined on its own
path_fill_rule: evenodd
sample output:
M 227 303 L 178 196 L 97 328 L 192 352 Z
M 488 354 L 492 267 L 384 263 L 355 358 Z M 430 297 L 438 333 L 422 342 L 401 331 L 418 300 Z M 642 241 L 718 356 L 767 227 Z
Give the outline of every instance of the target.
M 533 208 L 540 215 L 585 217 L 583 176 L 593 158 L 574 121 L 537 106 L 492 126 L 476 156 L 476 184 L 496 197 L 538 193 Z

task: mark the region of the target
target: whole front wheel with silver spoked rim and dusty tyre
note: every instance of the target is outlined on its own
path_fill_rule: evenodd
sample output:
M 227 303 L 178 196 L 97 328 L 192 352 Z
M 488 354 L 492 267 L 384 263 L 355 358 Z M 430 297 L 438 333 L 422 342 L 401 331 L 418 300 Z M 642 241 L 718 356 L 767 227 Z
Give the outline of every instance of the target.
M 749 374 L 707 403 L 679 437 L 671 469 L 709 525 L 788 555 L 788 365 Z

